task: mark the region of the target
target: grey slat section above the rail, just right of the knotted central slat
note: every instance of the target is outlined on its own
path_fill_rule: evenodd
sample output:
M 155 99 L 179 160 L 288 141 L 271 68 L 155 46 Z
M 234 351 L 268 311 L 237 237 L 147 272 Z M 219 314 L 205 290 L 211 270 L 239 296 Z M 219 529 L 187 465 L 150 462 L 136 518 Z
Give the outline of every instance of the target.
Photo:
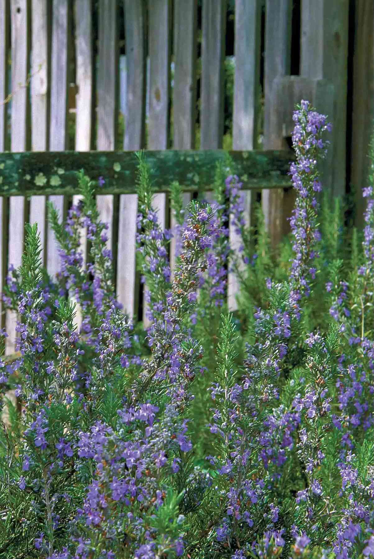
M 174 3 L 174 149 L 194 149 L 197 0 Z

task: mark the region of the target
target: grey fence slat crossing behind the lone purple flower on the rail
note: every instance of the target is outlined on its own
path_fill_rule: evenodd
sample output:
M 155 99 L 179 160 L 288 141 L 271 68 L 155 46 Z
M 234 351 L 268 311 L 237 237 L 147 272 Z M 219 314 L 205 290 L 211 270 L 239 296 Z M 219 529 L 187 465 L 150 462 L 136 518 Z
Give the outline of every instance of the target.
M 99 60 L 97 73 L 98 90 L 98 125 L 97 149 L 112 151 L 116 148 L 116 131 L 118 120 L 118 25 L 117 0 L 99 1 Z M 109 226 L 108 247 L 115 254 L 113 247 L 113 212 L 112 195 L 97 196 L 100 219 Z

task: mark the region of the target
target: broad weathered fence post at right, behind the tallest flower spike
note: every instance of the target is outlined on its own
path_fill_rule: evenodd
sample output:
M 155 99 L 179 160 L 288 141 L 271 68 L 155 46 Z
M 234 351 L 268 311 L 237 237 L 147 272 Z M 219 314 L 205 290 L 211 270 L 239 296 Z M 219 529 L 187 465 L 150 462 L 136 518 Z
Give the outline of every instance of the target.
M 349 0 L 301 4 L 300 74 L 325 78 L 334 85 L 334 114 L 329 115 L 334 125 L 329 138 L 331 172 L 324 177 L 333 196 L 343 196 L 346 188 L 348 7 Z

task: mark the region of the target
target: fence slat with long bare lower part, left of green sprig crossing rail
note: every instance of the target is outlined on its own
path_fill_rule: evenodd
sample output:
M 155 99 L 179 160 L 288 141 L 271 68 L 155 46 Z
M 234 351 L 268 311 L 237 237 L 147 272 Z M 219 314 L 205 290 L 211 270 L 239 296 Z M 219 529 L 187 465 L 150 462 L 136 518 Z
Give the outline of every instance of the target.
M 137 150 L 145 145 L 146 120 L 146 2 L 124 3 L 126 36 L 126 120 L 124 150 Z M 137 195 L 119 197 L 117 299 L 124 312 L 137 314 L 138 276 L 136 273 L 135 235 Z

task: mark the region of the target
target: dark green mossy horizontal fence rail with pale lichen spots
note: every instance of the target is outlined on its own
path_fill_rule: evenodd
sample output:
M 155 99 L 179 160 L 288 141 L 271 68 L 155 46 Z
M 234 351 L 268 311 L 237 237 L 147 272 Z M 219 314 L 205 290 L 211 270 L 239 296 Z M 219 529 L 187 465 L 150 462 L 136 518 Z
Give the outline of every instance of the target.
M 215 166 L 227 154 L 245 190 L 291 186 L 291 151 L 145 151 L 156 192 L 167 192 L 172 181 L 184 191 L 209 190 Z M 105 179 L 97 193 L 131 194 L 136 192 L 137 163 L 133 151 L 0 153 L 0 196 L 74 195 L 80 169 L 95 181 Z

